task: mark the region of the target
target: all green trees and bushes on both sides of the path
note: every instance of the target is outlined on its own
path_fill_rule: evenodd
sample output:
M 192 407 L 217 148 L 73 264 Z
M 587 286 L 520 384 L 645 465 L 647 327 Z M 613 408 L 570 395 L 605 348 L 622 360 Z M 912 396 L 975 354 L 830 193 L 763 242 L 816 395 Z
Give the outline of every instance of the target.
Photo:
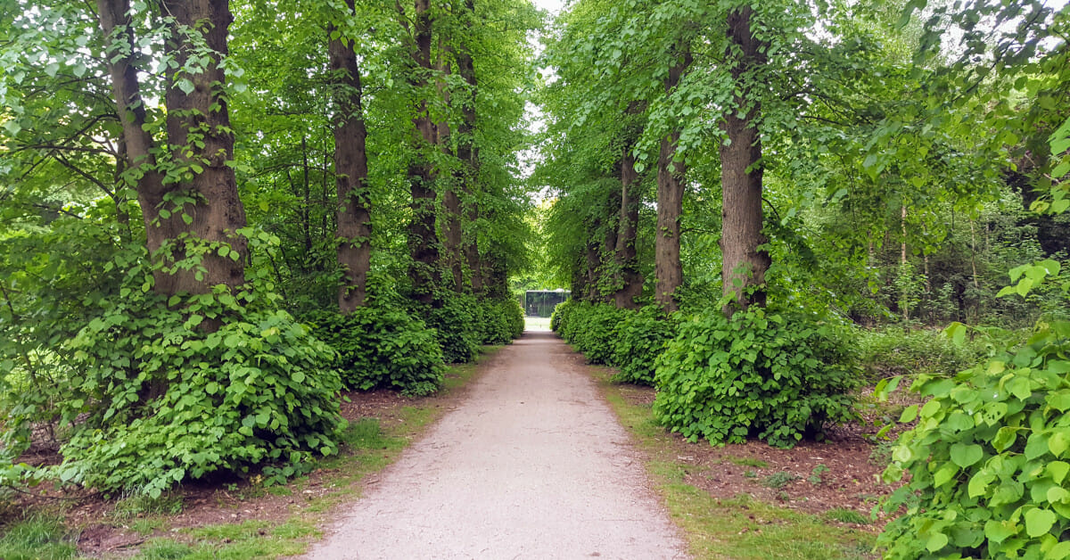
M 341 390 L 431 393 L 564 287 L 692 441 L 913 385 L 888 557 L 1070 557 L 1068 40 L 989 0 L 0 0 L 0 486 L 282 482 Z

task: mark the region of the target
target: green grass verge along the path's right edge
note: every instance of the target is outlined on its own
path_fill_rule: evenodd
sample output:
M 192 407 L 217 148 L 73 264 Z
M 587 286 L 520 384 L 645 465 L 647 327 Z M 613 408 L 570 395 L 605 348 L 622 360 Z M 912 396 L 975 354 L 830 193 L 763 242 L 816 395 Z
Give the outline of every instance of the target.
M 628 404 L 608 381 L 603 393 L 622 424 L 651 458 L 647 470 L 664 496 L 673 520 L 699 559 L 862 560 L 873 558 L 874 536 L 829 525 L 826 518 L 764 503 L 749 496 L 714 498 L 685 482 L 673 443 L 651 417 L 649 407 Z M 753 465 L 758 467 L 756 465 Z M 760 468 L 760 467 L 759 467 Z

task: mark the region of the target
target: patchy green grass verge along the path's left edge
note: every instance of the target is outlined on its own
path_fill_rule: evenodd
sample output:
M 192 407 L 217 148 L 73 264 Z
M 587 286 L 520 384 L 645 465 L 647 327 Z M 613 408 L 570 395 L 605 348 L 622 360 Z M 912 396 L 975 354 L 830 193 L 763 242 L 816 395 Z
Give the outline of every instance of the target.
M 443 394 L 461 389 L 478 370 L 483 355 L 499 347 L 484 347 L 476 363 L 450 366 L 443 382 Z M 182 512 L 182 495 L 171 493 L 155 500 L 131 495 L 116 502 L 110 521 L 125 525 L 140 535 L 166 534 L 149 539 L 133 557 L 141 560 L 259 559 L 292 557 L 305 554 L 309 542 L 322 535 L 318 529 L 339 504 L 360 496 L 360 482 L 394 463 L 401 451 L 424 429 L 445 413 L 413 400 L 397 411 L 399 421 L 384 428 L 379 420 L 365 418 L 351 422 L 342 434 L 341 454 L 320 460 L 317 468 L 328 471 L 320 482 L 331 488 L 325 495 L 302 500 L 293 515 L 278 524 L 246 520 L 192 529 L 169 529 L 168 516 Z M 243 500 L 266 494 L 301 495 L 308 486 L 302 476 L 279 486 L 249 486 L 238 491 Z M 0 560 L 67 560 L 77 558 L 77 535 L 63 524 L 61 516 L 32 516 L 0 528 Z

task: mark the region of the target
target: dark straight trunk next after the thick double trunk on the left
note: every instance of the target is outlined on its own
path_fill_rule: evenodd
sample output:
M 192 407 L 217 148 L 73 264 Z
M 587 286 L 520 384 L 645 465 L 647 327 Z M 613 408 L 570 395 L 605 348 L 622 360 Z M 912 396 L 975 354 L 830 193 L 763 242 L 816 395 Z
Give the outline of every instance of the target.
M 353 0 L 347 0 L 350 15 Z M 342 282 L 338 290 L 338 309 L 352 313 L 367 297 L 368 270 L 371 268 L 371 214 L 369 210 L 368 131 L 364 122 L 361 69 L 352 40 L 332 40 L 327 47 L 338 104 L 335 122 L 335 175 L 338 190 L 338 266 Z

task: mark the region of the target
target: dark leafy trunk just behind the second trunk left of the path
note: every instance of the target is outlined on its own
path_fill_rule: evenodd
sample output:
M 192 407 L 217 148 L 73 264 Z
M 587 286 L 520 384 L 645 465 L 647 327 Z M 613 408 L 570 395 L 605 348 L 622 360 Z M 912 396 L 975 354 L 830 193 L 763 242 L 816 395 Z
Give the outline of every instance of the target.
M 435 232 L 434 169 L 427 154 L 438 138 L 426 99 L 427 76 L 434 70 L 431 64 L 430 0 L 415 0 L 413 26 L 412 58 L 415 72 L 410 74 L 410 79 L 417 101 L 416 117 L 413 119 L 413 154 L 408 172 L 409 192 L 412 195 L 412 222 L 409 224 L 412 263 L 409 277 L 412 281 L 413 299 L 419 303 L 432 304 L 435 301 L 435 288 L 442 282 L 442 271 Z

